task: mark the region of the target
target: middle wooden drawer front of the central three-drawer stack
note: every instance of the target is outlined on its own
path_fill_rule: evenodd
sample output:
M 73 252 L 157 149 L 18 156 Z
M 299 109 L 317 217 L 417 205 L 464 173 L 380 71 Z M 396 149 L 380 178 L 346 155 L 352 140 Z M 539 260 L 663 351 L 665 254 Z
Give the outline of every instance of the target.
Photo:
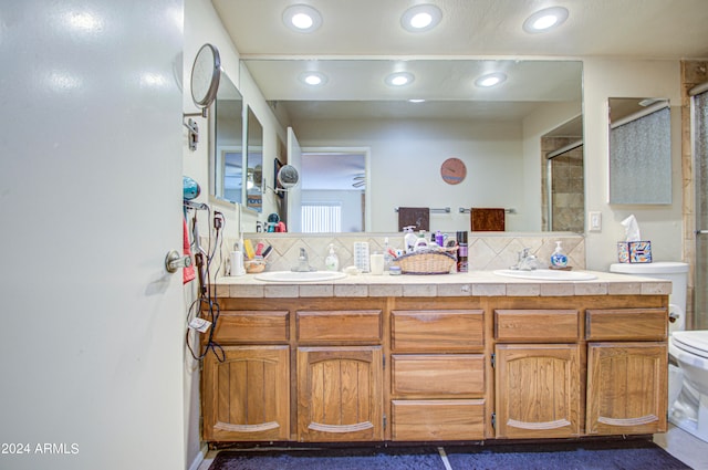
M 406 398 L 480 397 L 485 394 L 485 356 L 394 354 L 392 394 Z

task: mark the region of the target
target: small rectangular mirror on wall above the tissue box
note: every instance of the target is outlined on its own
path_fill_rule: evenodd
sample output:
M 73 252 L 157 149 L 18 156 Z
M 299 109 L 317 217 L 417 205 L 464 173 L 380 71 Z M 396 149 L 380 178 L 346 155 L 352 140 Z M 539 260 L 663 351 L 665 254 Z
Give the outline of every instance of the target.
M 610 203 L 671 203 L 668 100 L 610 98 Z

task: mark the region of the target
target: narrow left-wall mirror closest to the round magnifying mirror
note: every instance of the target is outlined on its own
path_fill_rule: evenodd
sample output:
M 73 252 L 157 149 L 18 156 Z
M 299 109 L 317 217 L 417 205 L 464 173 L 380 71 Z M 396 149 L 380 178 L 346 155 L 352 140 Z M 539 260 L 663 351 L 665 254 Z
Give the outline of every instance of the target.
M 243 179 L 243 98 L 233 82 L 221 72 L 219 91 L 211 113 L 214 145 L 210 160 L 212 196 L 241 202 Z

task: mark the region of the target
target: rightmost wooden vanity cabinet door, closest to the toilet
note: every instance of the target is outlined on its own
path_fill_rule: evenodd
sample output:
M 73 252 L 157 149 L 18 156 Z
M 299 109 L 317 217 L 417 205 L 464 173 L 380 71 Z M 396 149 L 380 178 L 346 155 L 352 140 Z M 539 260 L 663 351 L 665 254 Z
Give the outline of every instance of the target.
M 666 431 L 664 343 L 589 343 L 586 434 Z

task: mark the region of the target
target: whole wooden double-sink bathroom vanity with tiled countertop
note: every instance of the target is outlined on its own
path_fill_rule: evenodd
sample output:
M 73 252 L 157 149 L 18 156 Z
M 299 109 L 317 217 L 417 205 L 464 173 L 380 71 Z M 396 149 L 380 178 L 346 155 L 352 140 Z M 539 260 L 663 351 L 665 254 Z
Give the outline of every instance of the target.
M 666 430 L 670 282 L 491 272 L 220 281 L 209 442 L 481 441 Z

